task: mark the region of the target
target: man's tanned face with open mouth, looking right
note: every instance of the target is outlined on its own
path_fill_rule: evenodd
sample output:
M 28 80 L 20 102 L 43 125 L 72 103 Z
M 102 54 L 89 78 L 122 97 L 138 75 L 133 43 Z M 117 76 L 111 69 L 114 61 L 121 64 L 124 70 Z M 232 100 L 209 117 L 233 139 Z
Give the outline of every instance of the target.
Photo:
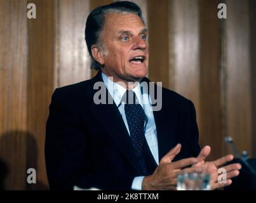
M 115 82 L 145 77 L 149 60 L 147 29 L 137 15 L 108 14 L 101 39 L 107 51 L 102 56 L 102 72 Z

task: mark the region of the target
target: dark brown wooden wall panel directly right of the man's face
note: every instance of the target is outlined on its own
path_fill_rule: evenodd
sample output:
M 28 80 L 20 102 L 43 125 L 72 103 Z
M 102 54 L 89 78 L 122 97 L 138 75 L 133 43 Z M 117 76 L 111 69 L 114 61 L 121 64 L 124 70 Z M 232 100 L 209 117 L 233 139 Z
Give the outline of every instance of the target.
M 169 1 L 148 1 L 149 79 L 170 87 Z

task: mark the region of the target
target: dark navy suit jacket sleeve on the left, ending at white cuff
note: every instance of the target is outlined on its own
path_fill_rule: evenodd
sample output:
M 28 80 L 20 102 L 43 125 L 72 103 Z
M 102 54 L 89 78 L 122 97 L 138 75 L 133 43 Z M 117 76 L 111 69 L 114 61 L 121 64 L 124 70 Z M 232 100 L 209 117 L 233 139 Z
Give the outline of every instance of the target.
M 59 89 L 53 93 L 46 123 L 45 158 L 48 181 L 53 190 L 81 188 L 130 189 L 133 176 L 97 173 L 88 151 L 88 132 L 76 106 Z M 92 158 L 93 157 L 93 158 Z M 103 166 L 104 167 L 104 166 Z M 102 170 L 101 170 L 102 171 Z

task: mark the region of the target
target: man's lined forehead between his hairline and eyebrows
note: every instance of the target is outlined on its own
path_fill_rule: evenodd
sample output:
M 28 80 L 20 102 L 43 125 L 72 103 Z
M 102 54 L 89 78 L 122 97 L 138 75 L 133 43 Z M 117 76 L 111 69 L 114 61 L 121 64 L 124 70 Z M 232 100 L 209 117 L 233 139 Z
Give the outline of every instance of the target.
M 105 31 L 144 30 L 144 22 L 135 14 L 109 13 L 105 16 Z

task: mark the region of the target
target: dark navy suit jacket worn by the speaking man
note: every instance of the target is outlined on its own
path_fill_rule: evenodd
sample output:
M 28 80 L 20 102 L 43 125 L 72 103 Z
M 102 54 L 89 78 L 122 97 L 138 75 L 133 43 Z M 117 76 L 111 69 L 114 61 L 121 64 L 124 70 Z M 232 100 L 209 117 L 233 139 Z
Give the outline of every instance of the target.
M 77 185 L 130 190 L 133 178 L 142 175 L 116 104 L 93 102 L 97 81 L 102 81 L 101 72 L 53 93 L 45 143 L 51 189 L 72 190 Z M 142 81 L 149 82 L 146 77 Z M 182 149 L 175 160 L 196 157 L 200 148 L 194 105 L 165 88 L 162 98 L 161 110 L 154 111 L 159 160 L 177 143 Z

